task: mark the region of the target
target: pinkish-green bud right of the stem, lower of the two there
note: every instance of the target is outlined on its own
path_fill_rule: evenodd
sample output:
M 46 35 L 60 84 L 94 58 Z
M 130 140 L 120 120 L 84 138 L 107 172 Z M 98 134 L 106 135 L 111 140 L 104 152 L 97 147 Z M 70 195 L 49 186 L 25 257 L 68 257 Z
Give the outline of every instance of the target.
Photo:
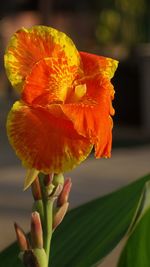
M 58 211 L 54 215 L 53 219 L 53 230 L 62 222 L 64 216 L 66 215 L 66 212 L 68 210 L 69 203 L 66 202 L 61 206 Z

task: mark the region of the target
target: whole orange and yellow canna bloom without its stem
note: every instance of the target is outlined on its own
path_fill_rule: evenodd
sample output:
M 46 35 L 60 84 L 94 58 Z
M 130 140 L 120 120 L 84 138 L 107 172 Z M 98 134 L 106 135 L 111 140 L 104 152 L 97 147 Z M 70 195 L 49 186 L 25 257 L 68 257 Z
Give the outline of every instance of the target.
M 50 27 L 22 28 L 12 36 L 5 68 L 20 100 L 8 115 L 7 132 L 25 167 L 65 172 L 86 159 L 93 146 L 96 158 L 110 157 L 110 80 L 117 65 L 78 52 L 67 35 Z

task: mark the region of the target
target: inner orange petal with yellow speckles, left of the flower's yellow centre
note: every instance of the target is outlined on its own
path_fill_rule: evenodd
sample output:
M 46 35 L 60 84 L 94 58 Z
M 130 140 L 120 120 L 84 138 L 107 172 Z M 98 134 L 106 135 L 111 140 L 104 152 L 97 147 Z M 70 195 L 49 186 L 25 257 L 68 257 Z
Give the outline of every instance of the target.
M 64 102 L 79 76 L 80 68 L 69 66 L 67 58 L 44 58 L 27 75 L 21 98 L 30 105 Z

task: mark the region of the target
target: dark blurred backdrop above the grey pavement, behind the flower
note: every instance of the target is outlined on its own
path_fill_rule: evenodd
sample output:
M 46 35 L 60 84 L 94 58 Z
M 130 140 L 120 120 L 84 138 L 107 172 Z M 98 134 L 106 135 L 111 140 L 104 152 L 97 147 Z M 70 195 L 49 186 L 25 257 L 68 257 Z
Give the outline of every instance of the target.
M 3 1 L 0 9 L 0 104 L 4 119 L 17 96 L 6 78 L 3 54 L 17 29 L 35 24 L 64 31 L 79 50 L 119 60 L 113 78 L 116 91 L 114 140 L 120 140 L 121 145 L 149 142 L 149 0 Z

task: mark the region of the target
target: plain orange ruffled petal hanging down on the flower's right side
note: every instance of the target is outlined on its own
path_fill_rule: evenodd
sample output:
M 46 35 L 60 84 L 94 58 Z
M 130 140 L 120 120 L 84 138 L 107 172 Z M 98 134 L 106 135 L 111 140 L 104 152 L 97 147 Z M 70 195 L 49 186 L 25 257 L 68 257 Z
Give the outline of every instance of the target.
M 95 145 L 95 156 L 110 157 L 114 114 L 114 89 L 107 77 L 87 79 L 87 94 L 81 102 L 62 105 L 76 131 Z

